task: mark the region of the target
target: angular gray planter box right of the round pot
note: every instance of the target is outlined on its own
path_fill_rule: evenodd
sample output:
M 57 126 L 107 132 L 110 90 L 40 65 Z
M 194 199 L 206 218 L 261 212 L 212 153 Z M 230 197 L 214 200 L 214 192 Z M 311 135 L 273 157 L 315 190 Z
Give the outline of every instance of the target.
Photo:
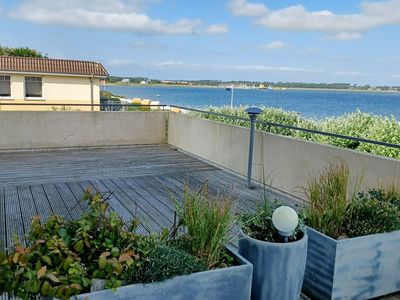
M 307 295 L 368 299 L 400 291 L 400 231 L 344 240 L 312 228 L 307 233 Z

